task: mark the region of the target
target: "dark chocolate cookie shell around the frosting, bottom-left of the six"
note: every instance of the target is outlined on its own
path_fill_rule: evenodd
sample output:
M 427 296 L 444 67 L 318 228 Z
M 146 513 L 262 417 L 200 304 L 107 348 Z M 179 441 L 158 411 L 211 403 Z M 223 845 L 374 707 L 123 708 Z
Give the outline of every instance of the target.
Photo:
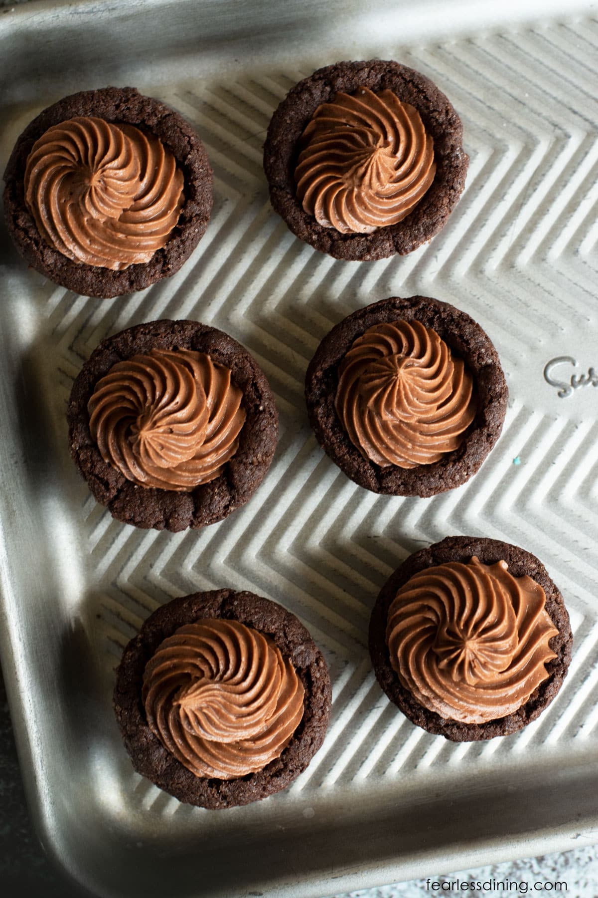
M 142 700 L 146 665 L 164 639 L 196 621 L 238 621 L 264 634 L 294 668 L 303 713 L 290 742 L 263 770 L 232 779 L 198 777 L 170 753 L 148 725 Z M 281 605 L 248 592 L 221 589 L 162 605 L 125 649 L 117 669 L 114 709 L 134 769 L 179 801 L 219 809 L 247 805 L 286 788 L 324 742 L 332 689 L 324 657 L 308 630 Z

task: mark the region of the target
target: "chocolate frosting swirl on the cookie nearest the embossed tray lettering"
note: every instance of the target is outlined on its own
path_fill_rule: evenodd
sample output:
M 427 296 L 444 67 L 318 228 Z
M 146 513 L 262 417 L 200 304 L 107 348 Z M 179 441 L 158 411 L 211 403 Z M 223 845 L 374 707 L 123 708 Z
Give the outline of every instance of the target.
M 383 468 L 431 464 L 472 423 L 472 375 L 420 321 L 375 324 L 339 365 L 334 408 L 364 458 Z

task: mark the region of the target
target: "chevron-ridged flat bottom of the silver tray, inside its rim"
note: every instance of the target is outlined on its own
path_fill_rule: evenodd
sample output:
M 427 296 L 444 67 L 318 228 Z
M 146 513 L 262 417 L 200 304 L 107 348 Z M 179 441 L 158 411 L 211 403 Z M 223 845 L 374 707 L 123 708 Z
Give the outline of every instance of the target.
M 581 758 L 598 745 L 598 389 L 587 383 L 559 396 L 572 374 L 598 369 L 598 22 L 522 26 L 411 49 L 377 44 L 360 55 L 400 59 L 429 75 L 464 121 L 471 157 L 464 196 L 427 247 L 406 258 L 344 263 L 299 242 L 273 214 L 261 147 L 277 103 L 315 67 L 296 59 L 284 70 L 244 69 L 201 83 L 153 83 L 146 74 L 137 84 L 194 123 L 214 170 L 211 223 L 175 277 L 141 294 L 94 300 L 26 271 L 9 251 L 27 395 L 36 394 L 47 441 L 43 453 L 31 450 L 49 480 L 34 478 L 38 499 L 30 501 L 43 506 L 62 590 L 55 624 L 70 647 L 53 700 L 91 806 L 115 826 L 125 821 L 140 845 L 155 838 L 160 846 L 163 827 L 181 839 L 224 838 L 233 818 L 267 832 L 289 826 L 293 814 L 334 813 L 341 798 L 349 807 L 373 796 L 392 804 L 407 787 L 462 788 L 478 775 L 508 775 L 531 759 Z M 12 110 L 3 150 L 38 109 Z M 507 419 L 462 488 L 431 499 L 377 497 L 316 444 L 303 378 L 319 340 L 342 317 L 414 294 L 455 304 L 488 332 L 507 374 Z M 108 334 L 158 318 L 228 331 L 264 368 L 280 411 L 280 445 L 256 496 L 201 532 L 117 523 L 68 456 L 65 406 L 83 361 Z M 485 744 L 450 744 L 412 726 L 378 688 L 368 657 L 369 612 L 386 577 L 413 550 L 453 533 L 533 551 L 564 594 L 574 629 L 558 698 L 520 733 Z M 232 816 L 180 806 L 134 774 L 111 710 L 114 668 L 142 621 L 171 597 L 225 585 L 297 613 L 324 651 L 334 686 L 330 729 L 308 770 L 287 792 Z M 43 774 L 41 788 L 52 791 Z

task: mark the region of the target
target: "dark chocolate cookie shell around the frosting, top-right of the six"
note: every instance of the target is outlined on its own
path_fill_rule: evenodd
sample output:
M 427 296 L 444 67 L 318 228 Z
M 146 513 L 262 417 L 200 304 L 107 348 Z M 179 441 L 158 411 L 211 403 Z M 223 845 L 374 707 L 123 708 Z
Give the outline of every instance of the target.
M 357 92 L 363 92 L 364 89 L 377 95 L 385 91 L 392 92 L 401 103 L 407 104 L 408 117 L 414 115 L 417 126 L 420 128 L 422 125 L 433 142 L 436 171 L 429 172 L 433 180 L 402 220 L 377 227 L 372 233 L 341 233 L 334 227 L 318 224 L 316 217 L 305 210 L 303 202 L 298 198 L 296 169 L 299 154 L 305 148 L 302 136 L 316 110 L 324 103 L 337 102 L 337 95 L 346 102 L 342 95 L 357 96 Z M 392 97 L 388 99 L 394 102 Z M 381 131 L 377 147 L 384 154 L 389 140 L 385 110 L 382 110 L 381 120 L 384 121 L 385 133 L 383 135 Z M 362 122 L 358 113 L 353 134 Z M 411 130 L 412 125 L 405 119 L 396 129 L 394 139 L 398 141 L 400 136 Z M 371 134 L 360 138 L 359 165 L 363 163 L 363 154 L 372 150 L 372 140 Z M 264 172 L 270 186 L 273 208 L 282 216 L 292 233 L 334 259 L 372 261 L 385 259 L 395 253 L 406 255 L 428 242 L 446 224 L 446 219 L 463 192 L 469 164 L 462 142 L 461 119 L 445 94 L 425 75 L 397 62 L 380 59 L 339 62 L 334 66 L 318 69 L 296 84 L 274 112 L 264 144 Z M 341 149 L 342 154 L 345 154 L 346 142 Z M 321 158 L 318 157 L 318 163 Z M 389 161 L 383 159 L 382 163 L 388 165 Z M 375 176 L 377 173 L 375 172 Z M 347 182 L 347 206 L 353 200 L 353 174 L 351 172 L 351 184 Z M 409 183 L 407 187 L 411 189 L 412 184 Z M 387 191 L 383 190 L 371 205 L 379 207 L 379 198 L 386 195 Z

